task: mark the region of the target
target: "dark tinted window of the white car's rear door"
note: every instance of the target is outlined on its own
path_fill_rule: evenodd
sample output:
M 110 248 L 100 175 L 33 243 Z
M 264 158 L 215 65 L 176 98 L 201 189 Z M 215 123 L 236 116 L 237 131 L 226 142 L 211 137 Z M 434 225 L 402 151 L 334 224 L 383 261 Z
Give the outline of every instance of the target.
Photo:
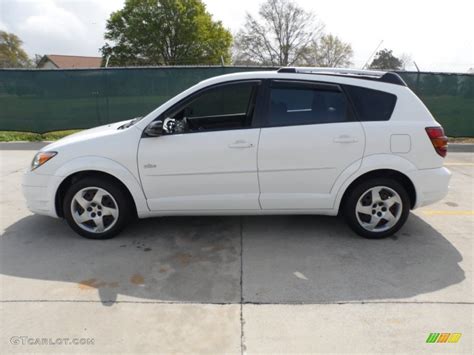
M 270 125 L 345 122 L 350 119 L 346 97 L 334 85 L 274 82 L 270 95 Z

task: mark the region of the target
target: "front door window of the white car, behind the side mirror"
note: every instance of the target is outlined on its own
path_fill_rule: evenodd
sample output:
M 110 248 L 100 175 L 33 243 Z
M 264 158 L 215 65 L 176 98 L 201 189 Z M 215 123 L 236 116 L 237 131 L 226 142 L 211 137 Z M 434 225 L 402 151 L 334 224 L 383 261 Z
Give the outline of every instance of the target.
M 260 82 L 219 85 L 165 115 L 168 134 L 250 127 Z

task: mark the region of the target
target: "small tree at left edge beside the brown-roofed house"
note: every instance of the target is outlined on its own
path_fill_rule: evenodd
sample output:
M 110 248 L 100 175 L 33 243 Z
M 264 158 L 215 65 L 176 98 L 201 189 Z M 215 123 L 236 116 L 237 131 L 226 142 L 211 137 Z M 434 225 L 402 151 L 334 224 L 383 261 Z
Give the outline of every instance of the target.
M 0 68 L 25 68 L 31 66 L 28 54 L 21 48 L 23 42 L 13 34 L 0 31 Z

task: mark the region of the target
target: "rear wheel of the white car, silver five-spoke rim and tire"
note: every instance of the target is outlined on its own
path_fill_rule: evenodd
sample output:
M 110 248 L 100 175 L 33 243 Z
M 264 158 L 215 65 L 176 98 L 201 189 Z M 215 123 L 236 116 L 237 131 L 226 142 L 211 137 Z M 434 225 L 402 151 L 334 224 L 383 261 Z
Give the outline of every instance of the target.
M 410 198 L 395 180 L 370 179 L 357 185 L 345 200 L 349 226 L 366 238 L 383 238 L 396 233 L 410 213 Z

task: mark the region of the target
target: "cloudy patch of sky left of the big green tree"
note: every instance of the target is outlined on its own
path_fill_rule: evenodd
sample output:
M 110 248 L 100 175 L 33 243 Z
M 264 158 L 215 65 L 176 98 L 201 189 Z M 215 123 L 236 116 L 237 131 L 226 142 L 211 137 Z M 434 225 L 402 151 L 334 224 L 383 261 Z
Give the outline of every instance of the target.
M 29 55 L 100 55 L 105 23 L 123 0 L 3 0 L 0 21 Z

